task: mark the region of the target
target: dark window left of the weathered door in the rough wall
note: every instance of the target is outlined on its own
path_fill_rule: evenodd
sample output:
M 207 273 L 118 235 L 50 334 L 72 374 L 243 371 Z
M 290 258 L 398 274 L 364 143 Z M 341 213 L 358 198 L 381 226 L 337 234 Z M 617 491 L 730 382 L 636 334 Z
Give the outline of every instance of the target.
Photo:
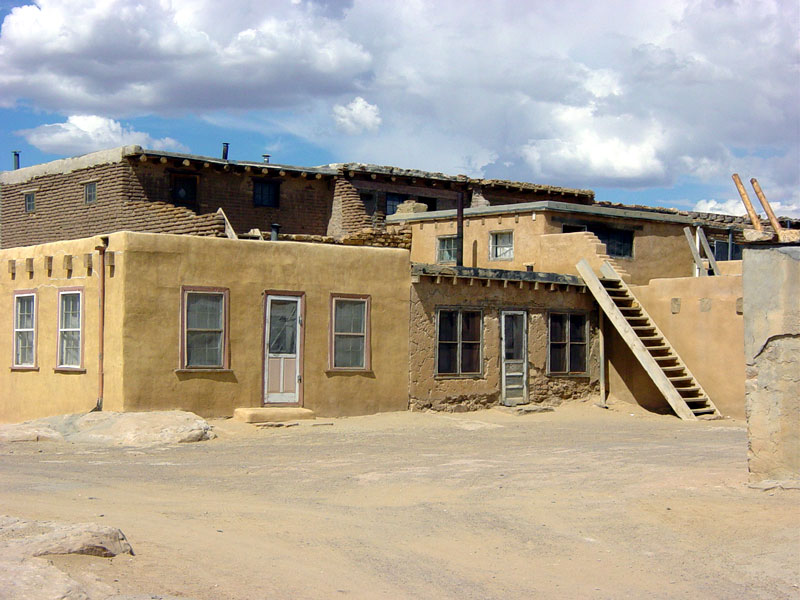
M 440 309 L 436 314 L 437 375 L 481 373 L 481 311 Z

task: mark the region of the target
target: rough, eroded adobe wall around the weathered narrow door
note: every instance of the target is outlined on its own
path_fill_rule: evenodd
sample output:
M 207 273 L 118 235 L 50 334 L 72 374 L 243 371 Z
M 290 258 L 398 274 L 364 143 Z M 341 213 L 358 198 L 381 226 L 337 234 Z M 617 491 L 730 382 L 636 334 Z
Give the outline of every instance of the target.
M 529 400 L 548 405 L 584 398 L 597 389 L 599 357 L 597 323 L 590 294 L 574 291 L 533 290 L 516 282 L 503 287 L 492 281 L 468 280 L 435 283 L 424 277 L 411 287 L 411 324 L 409 340 L 409 395 L 418 409 L 465 410 L 482 408 L 500 401 L 500 311 L 525 310 L 528 314 Z M 483 364 L 480 377 L 442 377 L 435 374 L 436 309 L 439 307 L 479 308 L 483 311 Z M 589 315 L 590 348 L 588 377 L 551 377 L 547 375 L 548 310 L 585 311 Z

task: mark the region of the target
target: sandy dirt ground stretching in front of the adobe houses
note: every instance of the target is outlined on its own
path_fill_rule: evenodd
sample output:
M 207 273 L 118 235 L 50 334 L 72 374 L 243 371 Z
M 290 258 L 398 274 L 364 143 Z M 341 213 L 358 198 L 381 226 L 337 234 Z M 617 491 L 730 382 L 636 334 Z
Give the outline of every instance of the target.
M 147 449 L 2 445 L 0 512 L 122 529 L 135 556 L 50 557 L 109 593 L 800 598 L 800 492 L 747 486 L 742 422 L 589 402 L 213 424 Z

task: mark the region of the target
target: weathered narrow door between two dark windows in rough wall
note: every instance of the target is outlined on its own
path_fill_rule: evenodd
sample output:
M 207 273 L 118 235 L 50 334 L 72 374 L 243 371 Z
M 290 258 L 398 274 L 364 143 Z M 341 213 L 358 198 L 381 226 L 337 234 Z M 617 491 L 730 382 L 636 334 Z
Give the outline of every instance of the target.
M 528 403 L 528 344 L 526 314 L 520 310 L 504 310 L 501 346 L 503 399 L 506 406 Z

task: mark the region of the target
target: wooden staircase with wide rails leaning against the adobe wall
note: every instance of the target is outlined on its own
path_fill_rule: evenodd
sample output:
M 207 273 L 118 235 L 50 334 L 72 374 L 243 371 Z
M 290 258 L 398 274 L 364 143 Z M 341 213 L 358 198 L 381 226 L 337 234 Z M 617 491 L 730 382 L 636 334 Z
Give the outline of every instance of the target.
M 576 265 L 586 287 L 656 387 L 681 419 L 718 418 L 720 412 L 619 274 L 603 263 L 598 279 L 585 259 Z

